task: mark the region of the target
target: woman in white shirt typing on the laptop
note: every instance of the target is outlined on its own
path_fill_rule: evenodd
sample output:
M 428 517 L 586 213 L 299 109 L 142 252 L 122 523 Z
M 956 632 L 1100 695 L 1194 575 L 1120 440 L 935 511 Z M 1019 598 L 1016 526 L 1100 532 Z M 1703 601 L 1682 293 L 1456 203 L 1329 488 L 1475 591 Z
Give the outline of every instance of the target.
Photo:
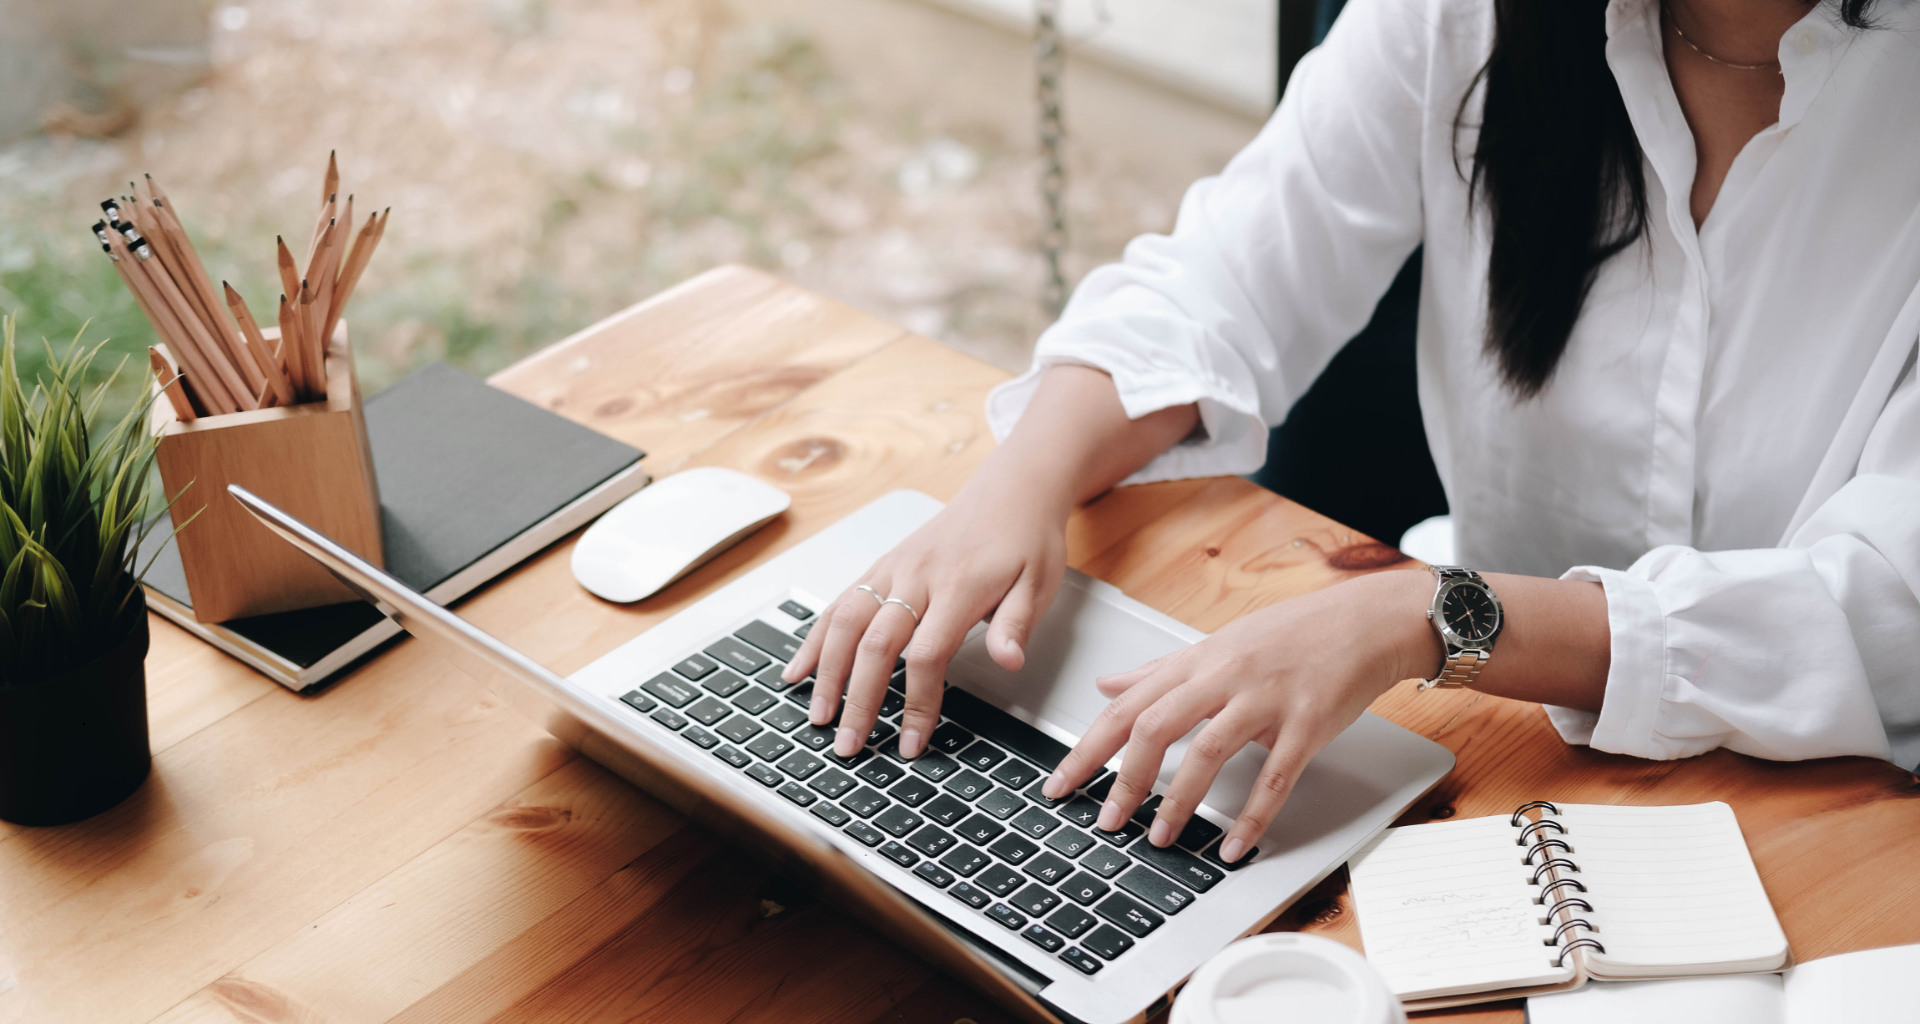
M 1204 722 L 1148 838 L 1261 744 L 1233 861 L 1367 703 L 1442 672 L 1542 701 L 1596 749 L 1912 765 L 1916 98 L 1910 0 L 1350 4 L 1173 234 L 1087 277 L 989 400 L 1004 444 L 835 601 L 789 678 L 818 665 L 816 722 L 845 690 L 851 753 L 904 651 L 918 753 L 973 622 L 991 613 L 989 653 L 1021 665 L 1068 511 L 1254 471 L 1425 244 L 1421 409 L 1480 571 L 1461 597 L 1503 605 L 1492 651 L 1442 644 L 1428 573 L 1348 580 L 1100 680 L 1114 701 L 1048 793 L 1125 749 L 1116 828 Z

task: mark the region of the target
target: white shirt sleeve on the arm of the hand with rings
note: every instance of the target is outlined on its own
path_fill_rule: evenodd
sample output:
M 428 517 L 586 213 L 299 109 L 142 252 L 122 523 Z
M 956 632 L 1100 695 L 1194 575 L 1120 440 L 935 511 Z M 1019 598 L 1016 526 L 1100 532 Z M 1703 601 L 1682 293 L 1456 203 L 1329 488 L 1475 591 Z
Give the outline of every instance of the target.
M 995 388 L 1004 440 L 1052 365 L 1106 371 L 1127 415 L 1198 403 L 1200 430 L 1127 482 L 1252 473 L 1365 323 L 1421 238 L 1419 146 L 1428 0 L 1356 0 L 1286 98 L 1171 234 L 1100 267 L 1041 334 L 1033 369 Z

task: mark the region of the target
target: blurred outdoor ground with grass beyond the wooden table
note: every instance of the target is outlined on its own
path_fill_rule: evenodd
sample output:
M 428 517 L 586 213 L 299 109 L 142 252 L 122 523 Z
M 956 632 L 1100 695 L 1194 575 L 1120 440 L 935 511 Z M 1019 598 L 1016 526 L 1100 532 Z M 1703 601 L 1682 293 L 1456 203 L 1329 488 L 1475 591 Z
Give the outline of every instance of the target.
M 1068 279 L 1273 102 L 1273 0 L 1062 0 Z M 1006 369 L 1046 325 L 1031 0 L 0 0 L 0 311 L 154 340 L 88 225 L 152 173 L 257 315 L 328 150 L 392 229 L 369 390 L 492 373 L 716 263 Z M 117 363 L 117 355 L 102 359 Z M 129 363 L 131 377 L 144 359 Z M 115 394 L 129 402 L 131 378 Z

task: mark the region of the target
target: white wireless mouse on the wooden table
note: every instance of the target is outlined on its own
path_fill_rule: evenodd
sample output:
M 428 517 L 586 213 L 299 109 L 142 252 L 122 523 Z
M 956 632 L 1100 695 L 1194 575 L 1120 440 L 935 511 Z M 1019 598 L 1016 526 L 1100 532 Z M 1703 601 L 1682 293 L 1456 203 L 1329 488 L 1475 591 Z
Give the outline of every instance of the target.
M 620 501 L 580 534 L 574 578 L 609 601 L 651 597 L 791 503 L 787 492 L 732 469 L 674 473 Z

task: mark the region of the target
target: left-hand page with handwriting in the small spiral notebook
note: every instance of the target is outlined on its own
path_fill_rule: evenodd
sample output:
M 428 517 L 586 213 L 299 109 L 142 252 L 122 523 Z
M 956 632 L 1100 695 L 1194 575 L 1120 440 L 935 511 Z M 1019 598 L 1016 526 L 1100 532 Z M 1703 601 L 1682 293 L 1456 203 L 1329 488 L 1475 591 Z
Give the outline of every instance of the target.
M 1507 818 L 1388 828 L 1348 863 L 1367 961 L 1402 999 L 1569 982 Z

